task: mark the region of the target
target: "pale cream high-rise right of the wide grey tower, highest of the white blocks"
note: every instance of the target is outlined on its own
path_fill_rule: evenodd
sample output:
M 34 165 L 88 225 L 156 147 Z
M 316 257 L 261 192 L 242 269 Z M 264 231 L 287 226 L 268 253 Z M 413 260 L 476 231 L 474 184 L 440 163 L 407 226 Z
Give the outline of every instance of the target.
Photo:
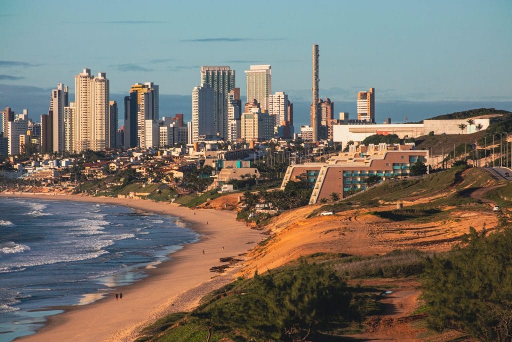
M 245 70 L 247 78 L 247 99 L 256 99 L 261 109 L 268 110 L 268 97 L 272 93 L 272 68 L 270 65 L 251 65 Z

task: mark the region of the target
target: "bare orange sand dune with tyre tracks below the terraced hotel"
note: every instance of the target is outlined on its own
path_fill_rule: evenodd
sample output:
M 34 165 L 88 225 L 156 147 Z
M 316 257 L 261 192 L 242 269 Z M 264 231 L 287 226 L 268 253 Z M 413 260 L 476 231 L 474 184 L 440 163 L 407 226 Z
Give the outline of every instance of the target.
M 428 223 L 392 221 L 375 216 L 368 209 L 306 218 L 314 209 L 300 208 L 274 219 L 267 227 L 274 238 L 251 252 L 244 273 L 264 272 L 317 252 L 375 255 L 396 249 L 447 251 L 470 227 L 481 230 L 485 223 L 486 229 L 492 230 L 498 224 L 497 214 L 490 207 L 485 211 L 445 208 L 451 210 L 442 219 Z

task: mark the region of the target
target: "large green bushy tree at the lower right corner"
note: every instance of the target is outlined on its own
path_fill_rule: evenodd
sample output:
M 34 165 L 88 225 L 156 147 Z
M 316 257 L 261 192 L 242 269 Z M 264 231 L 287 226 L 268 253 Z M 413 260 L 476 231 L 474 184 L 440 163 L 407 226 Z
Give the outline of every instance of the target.
M 447 256 L 428 259 L 422 287 L 431 327 L 482 341 L 510 341 L 511 244 L 510 227 L 489 236 L 470 228 Z

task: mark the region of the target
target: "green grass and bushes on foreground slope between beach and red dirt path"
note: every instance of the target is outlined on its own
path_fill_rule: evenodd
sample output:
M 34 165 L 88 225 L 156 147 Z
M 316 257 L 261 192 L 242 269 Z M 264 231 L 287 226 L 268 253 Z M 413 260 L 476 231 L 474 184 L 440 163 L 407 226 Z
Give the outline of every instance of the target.
M 316 340 L 377 310 L 374 294 L 347 286 L 330 267 L 302 260 L 234 281 L 190 314 L 161 319 L 138 341 Z

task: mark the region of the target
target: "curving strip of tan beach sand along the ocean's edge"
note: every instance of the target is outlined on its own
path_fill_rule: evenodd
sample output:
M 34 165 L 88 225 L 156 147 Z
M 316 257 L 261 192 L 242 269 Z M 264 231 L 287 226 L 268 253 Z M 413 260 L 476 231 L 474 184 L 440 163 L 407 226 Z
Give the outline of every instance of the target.
M 242 263 L 220 275 L 209 269 L 225 264 L 219 258 L 246 253 L 264 238 L 261 231 L 236 221 L 236 213 L 229 211 L 191 210 L 151 200 L 81 195 L 29 193 L 0 196 L 128 206 L 179 217 L 200 234 L 198 242 L 185 245 L 171 254 L 171 260 L 155 269 L 148 269 L 146 273 L 150 276 L 135 284 L 116 288 L 115 292 L 123 293 L 122 300 L 116 301 L 114 292 L 89 305 L 66 307 L 65 313 L 50 316 L 48 324 L 36 334 L 19 338 L 24 341 L 133 341 L 141 328 L 159 317 L 190 310 L 205 294 L 233 280 Z

